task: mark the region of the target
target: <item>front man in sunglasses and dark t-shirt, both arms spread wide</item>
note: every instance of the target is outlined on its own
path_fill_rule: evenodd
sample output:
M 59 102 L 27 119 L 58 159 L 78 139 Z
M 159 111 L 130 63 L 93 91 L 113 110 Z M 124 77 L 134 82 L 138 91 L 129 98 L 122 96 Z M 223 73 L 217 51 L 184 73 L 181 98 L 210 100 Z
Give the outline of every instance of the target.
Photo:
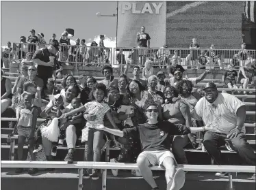
M 177 161 L 170 151 L 170 136 L 181 136 L 188 133 L 196 133 L 208 130 L 210 127 L 185 127 L 174 125 L 168 121 L 157 121 L 158 108 L 156 104 L 151 104 L 146 109 L 147 123 L 136 127 L 123 129 L 123 131 L 110 129 L 103 125 L 98 125 L 96 129 L 107 131 L 115 136 L 129 136 L 140 133 L 142 153 L 138 156 L 137 164 L 140 174 L 151 185 L 152 190 L 159 189 L 153 174 L 151 165 L 159 165 L 166 170 L 166 183 L 168 190 L 179 190 L 185 183 L 185 173 L 180 168 L 176 170 Z

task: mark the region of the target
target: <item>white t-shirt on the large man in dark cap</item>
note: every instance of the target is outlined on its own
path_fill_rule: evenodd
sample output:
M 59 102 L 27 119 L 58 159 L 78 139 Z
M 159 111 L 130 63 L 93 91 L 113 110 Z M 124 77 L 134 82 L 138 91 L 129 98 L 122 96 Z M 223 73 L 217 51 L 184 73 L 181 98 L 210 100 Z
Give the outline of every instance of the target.
M 236 127 L 238 108 L 245 104 L 237 97 L 227 93 L 219 93 L 217 99 L 211 104 L 205 97 L 199 99 L 194 108 L 194 115 L 203 119 L 205 125 L 214 127 L 211 131 L 228 134 Z M 242 127 L 245 133 L 245 126 Z

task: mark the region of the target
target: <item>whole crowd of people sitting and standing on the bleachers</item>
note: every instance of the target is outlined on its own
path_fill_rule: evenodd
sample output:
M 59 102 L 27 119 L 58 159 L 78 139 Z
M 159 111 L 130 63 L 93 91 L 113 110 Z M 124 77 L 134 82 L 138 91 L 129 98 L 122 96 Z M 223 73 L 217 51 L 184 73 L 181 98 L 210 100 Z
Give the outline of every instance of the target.
M 12 109 L 18 118 L 10 134 L 18 133 L 18 160 L 23 159 L 26 139 L 31 160 L 38 160 L 37 155 L 43 151 L 46 160 L 53 161 L 57 145 L 66 144 L 68 153 L 64 161 L 68 163 L 75 160 L 75 146 L 80 137 L 85 144 L 85 161 L 101 161 L 101 150 L 110 141 L 120 145 L 120 154 L 110 161 L 137 162 L 140 170 L 132 173 L 143 176 L 155 190 L 158 187 L 149 166 L 162 166 L 166 168 L 168 189 L 181 189 L 185 173 L 175 167 L 177 163 L 188 163 L 184 148 L 201 148 L 196 136 L 203 136 L 203 146 L 217 164 L 225 164 L 218 147 L 226 145 L 236 151 L 245 164 L 255 165 L 255 153 L 244 134 L 244 103 L 228 93 L 218 93 L 213 82 L 203 89 L 195 89 L 194 84 L 202 81 L 209 71 L 188 78 L 185 69 L 178 64 L 177 54 L 173 55 L 177 62 L 171 61 L 168 67 L 168 81 L 162 71 L 153 75 L 153 62 L 144 56 L 144 50 L 150 46 L 150 37 L 144 33 L 144 27 L 137 40 L 140 46 L 138 61 L 145 61 L 145 67 L 142 69 L 139 64 L 132 67 L 133 78 L 127 77 L 129 63 L 119 78 L 114 78 L 111 65 L 103 65 L 103 80 L 81 75 L 80 84 L 77 84 L 75 76 L 67 75 L 60 89 L 55 85 L 57 74 L 61 72 L 57 65 L 67 55 L 55 36 L 45 48 L 42 45 L 44 35 L 40 33 L 40 37 L 42 48 L 34 54 L 27 52 L 14 86 L 1 70 L 1 114 Z M 99 43 L 102 47 L 103 39 L 101 37 Z M 32 35 L 29 40 L 34 42 L 38 37 Z M 65 40 L 67 38 L 63 37 L 60 41 Z M 80 42 L 77 40 L 77 43 Z M 193 41 L 191 47 L 199 48 L 199 45 Z M 245 66 L 240 67 L 237 74 L 233 69 L 235 65 L 231 65 L 223 81 L 232 89 L 238 89 L 236 81 L 243 84 L 244 89 L 248 84 L 255 85 L 252 66 L 253 63 L 246 59 Z M 62 78 L 61 74 L 59 77 Z M 37 118 L 46 120 L 37 126 Z M 15 172 L 21 173 L 23 168 Z M 30 168 L 28 172 L 36 174 L 38 169 Z M 92 179 L 97 180 L 98 170 L 84 170 L 84 177 L 90 178 L 91 172 Z M 117 176 L 118 170 L 112 173 Z M 225 173 L 216 175 L 225 176 Z

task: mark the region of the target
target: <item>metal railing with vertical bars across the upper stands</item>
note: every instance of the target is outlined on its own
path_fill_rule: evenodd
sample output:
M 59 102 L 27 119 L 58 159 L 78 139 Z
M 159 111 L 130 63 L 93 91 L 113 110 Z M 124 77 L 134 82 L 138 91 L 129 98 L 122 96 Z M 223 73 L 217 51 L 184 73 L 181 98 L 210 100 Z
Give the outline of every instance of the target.
M 49 46 L 46 44 L 45 47 Z M 27 52 L 34 53 L 38 49 L 36 44 L 14 43 L 12 59 L 23 59 Z M 60 44 L 60 52 L 57 52 L 58 61 L 66 65 L 94 66 L 111 64 L 120 67 L 130 65 L 142 65 L 146 59 L 153 61 L 154 67 L 166 68 L 171 63 L 187 66 L 188 68 L 227 68 L 233 63 L 236 67 L 244 65 L 246 59 L 254 61 L 255 50 L 242 49 L 210 49 L 191 50 L 189 48 L 101 48 L 99 46 L 73 46 Z

